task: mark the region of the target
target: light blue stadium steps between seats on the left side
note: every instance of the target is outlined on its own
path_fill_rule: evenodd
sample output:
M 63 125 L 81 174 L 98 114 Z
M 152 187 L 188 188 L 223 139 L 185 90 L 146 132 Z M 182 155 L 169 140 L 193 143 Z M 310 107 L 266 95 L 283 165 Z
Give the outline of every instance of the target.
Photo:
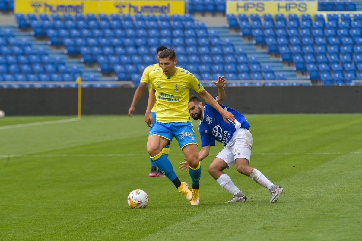
M 42 47 L 48 51 L 49 57 L 59 56 L 64 59 L 64 62 L 67 66 L 77 66 L 83 73 L 93 74 L 100 81 L 114 81 L 114 77 L 102 77 L 102 74 L 97 71 L 96 68 L 88 68 L 83 63 L 80 62 L 80 59 L 70 59 L 67 54 L 65 54 L 62 50 L 53 50 L 51 46 L 48 45 L 47 40 L 37 40 L 33 35 L 30 34 L 29 31 L 23 32 L 19 31 L 17 27 L 14 26 L 2 26 L 4 28 L 10 29 L 15 34 L 16 38 L 26 38 L 28 39 L 32 46 L 35 48 Z

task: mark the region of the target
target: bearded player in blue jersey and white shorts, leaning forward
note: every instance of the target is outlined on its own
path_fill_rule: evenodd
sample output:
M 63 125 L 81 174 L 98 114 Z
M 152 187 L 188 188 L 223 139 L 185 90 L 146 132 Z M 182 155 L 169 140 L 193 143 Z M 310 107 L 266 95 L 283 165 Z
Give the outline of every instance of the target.
M 244 193 L 223 172 L 224 169 L 230 168 L 234 164 L 238 172 L 252 178 L 252 180 L 269 190 L 271 193 L 270 203 L 276 202 L 283 188 L 274 185 L 258 169 L 249 167 L 253 137 L 249 132 L 250 125 L 248 121 L 239 112 L 222 104 L 226 97 L 224 90 L 224 85 L 227 83 L 226 79 L 219 76 L 218 81 L 212 83 L 218 87 L 216 101 L 221 108 L 233 113 L 235 124 L 226 124 L 223 117 L 212 106 L 209 104 L 203 106 L 197 96 L 190 96 L 188 107 L 190 115 L 193 119 L 200 120 L 201 151 L 199 152 L 199 160 L 201 161 L 209 155 L 210 146 L 215 146 L 215 141 L 223 143 L 225 147 L 210 164 L 209 173 L 223 189 L 233 195 L 233 198 L 227 203 L 245 202 L 247 200 Z M 180 163 L 182 171 L 188 170 L 188 159 L 185 160 L 187 161 Z

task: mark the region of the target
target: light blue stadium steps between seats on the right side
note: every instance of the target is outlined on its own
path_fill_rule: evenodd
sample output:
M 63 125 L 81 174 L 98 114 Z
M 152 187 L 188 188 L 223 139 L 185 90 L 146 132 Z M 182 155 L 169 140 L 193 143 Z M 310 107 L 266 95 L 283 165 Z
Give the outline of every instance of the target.
M 285 68 L 282 63 L 279 63 L 278 60 L 270 59 L 270 55 L 266 51 L 257 50 L 252 43 L 244 42 L 243 38 L 241 38 L 238 33 L 230 33 L 230 30 L 227 27 L 207 26 L 207 28 L 208 30 L 216 31 L 222 40 L 230 39 L 233 42 L 235 48 L 243 48 L 248 57 L 257 57 L 262 66 L 272 66 L 275 75 L 282 73 L 288 79 L 306 79 L 303 77 L 297 77 L 296 72 L 292 68 Z

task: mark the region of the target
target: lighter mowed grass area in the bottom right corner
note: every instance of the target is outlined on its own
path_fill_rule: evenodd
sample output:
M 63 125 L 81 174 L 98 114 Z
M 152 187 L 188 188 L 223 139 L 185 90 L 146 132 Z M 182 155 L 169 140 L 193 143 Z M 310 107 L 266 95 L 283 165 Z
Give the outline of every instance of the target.
M 139 240 L 360 240 L 361 170 L 358 156 L 342 155 L 280 180 L 276 203 L 258 188 L 246 203 L 220 204 Z

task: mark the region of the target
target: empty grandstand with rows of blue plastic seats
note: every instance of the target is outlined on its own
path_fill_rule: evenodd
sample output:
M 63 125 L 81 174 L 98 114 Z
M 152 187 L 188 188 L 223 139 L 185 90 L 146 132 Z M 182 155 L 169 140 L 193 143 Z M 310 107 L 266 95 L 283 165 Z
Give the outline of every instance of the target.
M 224 0 L 186 1 L 184 15 L 40 13 L 39 5 L 0 28 L 0 86 L 76 87 L 78 76 L 86 87 L 138 86 L 159 45 L 174 48 L 178 66 L 205 83 L 219 75 L 230 86 L 361 83 L 359 2 L 310 2 L 324 12 L 233 14 Z M 0 7 L 10 15 L 14 8 Z

